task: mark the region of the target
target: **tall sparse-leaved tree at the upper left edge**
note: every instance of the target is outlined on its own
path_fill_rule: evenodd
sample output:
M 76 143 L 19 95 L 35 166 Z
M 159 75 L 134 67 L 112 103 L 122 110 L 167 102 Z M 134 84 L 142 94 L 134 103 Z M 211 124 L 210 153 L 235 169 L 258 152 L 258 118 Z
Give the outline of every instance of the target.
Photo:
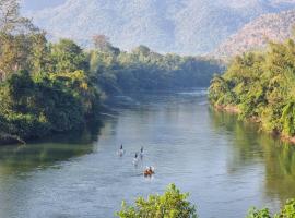
M 0 0 L 0 82 L 17 71 L 31 70 L 34 35 L 40 32 L 20 15 L 19 2 Z

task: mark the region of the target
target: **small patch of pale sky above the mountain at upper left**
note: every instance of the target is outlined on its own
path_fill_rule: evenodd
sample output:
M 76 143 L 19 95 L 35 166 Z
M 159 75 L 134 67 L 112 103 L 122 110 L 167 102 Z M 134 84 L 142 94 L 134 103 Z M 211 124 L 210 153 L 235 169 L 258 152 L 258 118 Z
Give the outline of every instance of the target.
M 66 0 L 22 0 L 22 7 L 25 10 L 39 10 L 46 7 L 56 7 L 63 3 Z

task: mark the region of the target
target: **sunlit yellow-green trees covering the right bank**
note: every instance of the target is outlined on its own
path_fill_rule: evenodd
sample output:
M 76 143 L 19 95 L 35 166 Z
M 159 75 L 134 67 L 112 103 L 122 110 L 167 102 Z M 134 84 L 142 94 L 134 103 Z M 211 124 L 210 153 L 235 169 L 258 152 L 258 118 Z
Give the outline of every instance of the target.
M 236 57 L 226 73 L 215 76 L 209 98 L 216 107 L 234 109 L 263 130 L 295 136 L 295 43 L 270 43 L 263 53 Z

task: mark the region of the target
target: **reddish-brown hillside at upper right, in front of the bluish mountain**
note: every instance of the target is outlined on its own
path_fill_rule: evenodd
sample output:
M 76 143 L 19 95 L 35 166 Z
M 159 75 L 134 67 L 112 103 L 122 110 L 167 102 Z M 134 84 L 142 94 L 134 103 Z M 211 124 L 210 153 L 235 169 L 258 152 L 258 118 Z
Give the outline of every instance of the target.
M 261 15 L 229 37 L 213 53 L 221 59 L 228 59 L 245 51 L 259 50 L 270 40 L 283 41 L 290 38 L 294 25 L 295 10 Z

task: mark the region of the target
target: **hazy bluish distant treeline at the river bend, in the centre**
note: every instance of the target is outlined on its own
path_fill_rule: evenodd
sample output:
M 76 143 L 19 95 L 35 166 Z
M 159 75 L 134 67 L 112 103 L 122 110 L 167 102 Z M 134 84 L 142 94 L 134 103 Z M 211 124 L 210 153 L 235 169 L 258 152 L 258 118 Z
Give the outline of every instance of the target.
M 214 60 L 163 56 L 145 46 L 131 52 L 120 51 L 104 36 L 94 37 L 94 43 L 96 49 L 90 51 L 91 72 L 107 94 L 206 87 L 213 73 L 223 70 Z

